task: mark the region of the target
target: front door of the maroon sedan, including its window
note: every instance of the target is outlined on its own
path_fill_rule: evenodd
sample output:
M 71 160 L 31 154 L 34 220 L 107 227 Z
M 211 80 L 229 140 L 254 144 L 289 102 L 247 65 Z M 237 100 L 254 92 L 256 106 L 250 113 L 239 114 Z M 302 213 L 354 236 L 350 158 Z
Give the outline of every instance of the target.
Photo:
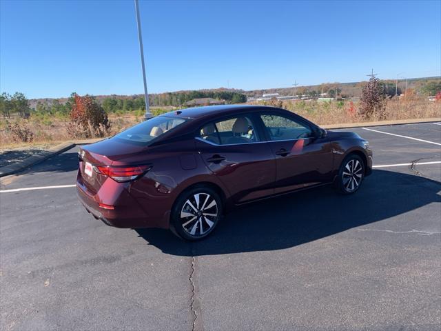
M 283 112 L 262 112 L 259 118 L 276 157 L 275 193 L 331 181 L 331 144 L 316 137 L 309 123 Z

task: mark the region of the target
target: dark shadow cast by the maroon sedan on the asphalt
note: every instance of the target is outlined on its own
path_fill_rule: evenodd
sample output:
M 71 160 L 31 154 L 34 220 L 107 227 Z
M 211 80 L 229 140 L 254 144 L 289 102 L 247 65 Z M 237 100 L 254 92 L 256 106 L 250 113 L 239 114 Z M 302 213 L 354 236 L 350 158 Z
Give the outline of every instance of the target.
M 349 196 L 327 186 L 237 208 L 196 243 L 176 239 L 168 230 L 136 232 L 150 245 L 179 256 L 281 250 L 441 202 L 440 190 L 438 181 L 374 170 Z

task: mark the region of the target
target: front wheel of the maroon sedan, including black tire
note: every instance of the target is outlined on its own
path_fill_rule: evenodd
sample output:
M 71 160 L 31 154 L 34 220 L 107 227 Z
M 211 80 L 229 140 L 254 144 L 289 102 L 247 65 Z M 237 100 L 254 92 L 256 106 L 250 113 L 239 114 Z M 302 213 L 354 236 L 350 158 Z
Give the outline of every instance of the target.
M 365 163 L 357 154 L 349 154 L 342 161 L 338 170 L 336 186 L 341 194 L 353 194 L 358 191 L 365 179 Z

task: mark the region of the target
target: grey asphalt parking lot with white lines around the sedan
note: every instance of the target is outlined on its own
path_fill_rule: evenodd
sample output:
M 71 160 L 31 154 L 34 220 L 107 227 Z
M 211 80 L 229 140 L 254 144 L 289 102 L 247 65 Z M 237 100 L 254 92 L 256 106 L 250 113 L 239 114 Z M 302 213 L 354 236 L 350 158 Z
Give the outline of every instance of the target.
M 77 148 L 3 177 L 1 330 L 440 330 L 441 125 L 348 130 L 377 167 L 356 194 L 247 205 L 197 243 L 19 190 L 73 184 Z

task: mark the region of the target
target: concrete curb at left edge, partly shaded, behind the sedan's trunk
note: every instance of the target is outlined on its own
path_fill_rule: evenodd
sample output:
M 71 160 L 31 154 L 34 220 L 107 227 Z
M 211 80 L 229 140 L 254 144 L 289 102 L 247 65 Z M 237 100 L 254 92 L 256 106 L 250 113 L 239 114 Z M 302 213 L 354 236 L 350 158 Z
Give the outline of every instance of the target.
M 11 165 L 5 165 L 0 168 L 0 177 L 5 177 L 10 174 L 15 174 L 16 172 L 20 172 L 25 168 L 29 168 L 31 165 L 36 165 L 41 163 L 51 157 L 54 157 L 57 154 L 61 154 L 66 150 L 70 150 L 70 148 L 75 147 L 76 145 L 85 145 L 88 143 L 96 143 L 96 141 L 103 140 L 99 139 L 88 139 L 88 140 L 77 140 L 77 141 L 66 141 L 65 143 L 60 143 L 57 146 L 50 148 L 49 150 L 43 150 L 39 154 L 32 155 L 32 157 L 27 157 L 26 159 L 13 163 Z

